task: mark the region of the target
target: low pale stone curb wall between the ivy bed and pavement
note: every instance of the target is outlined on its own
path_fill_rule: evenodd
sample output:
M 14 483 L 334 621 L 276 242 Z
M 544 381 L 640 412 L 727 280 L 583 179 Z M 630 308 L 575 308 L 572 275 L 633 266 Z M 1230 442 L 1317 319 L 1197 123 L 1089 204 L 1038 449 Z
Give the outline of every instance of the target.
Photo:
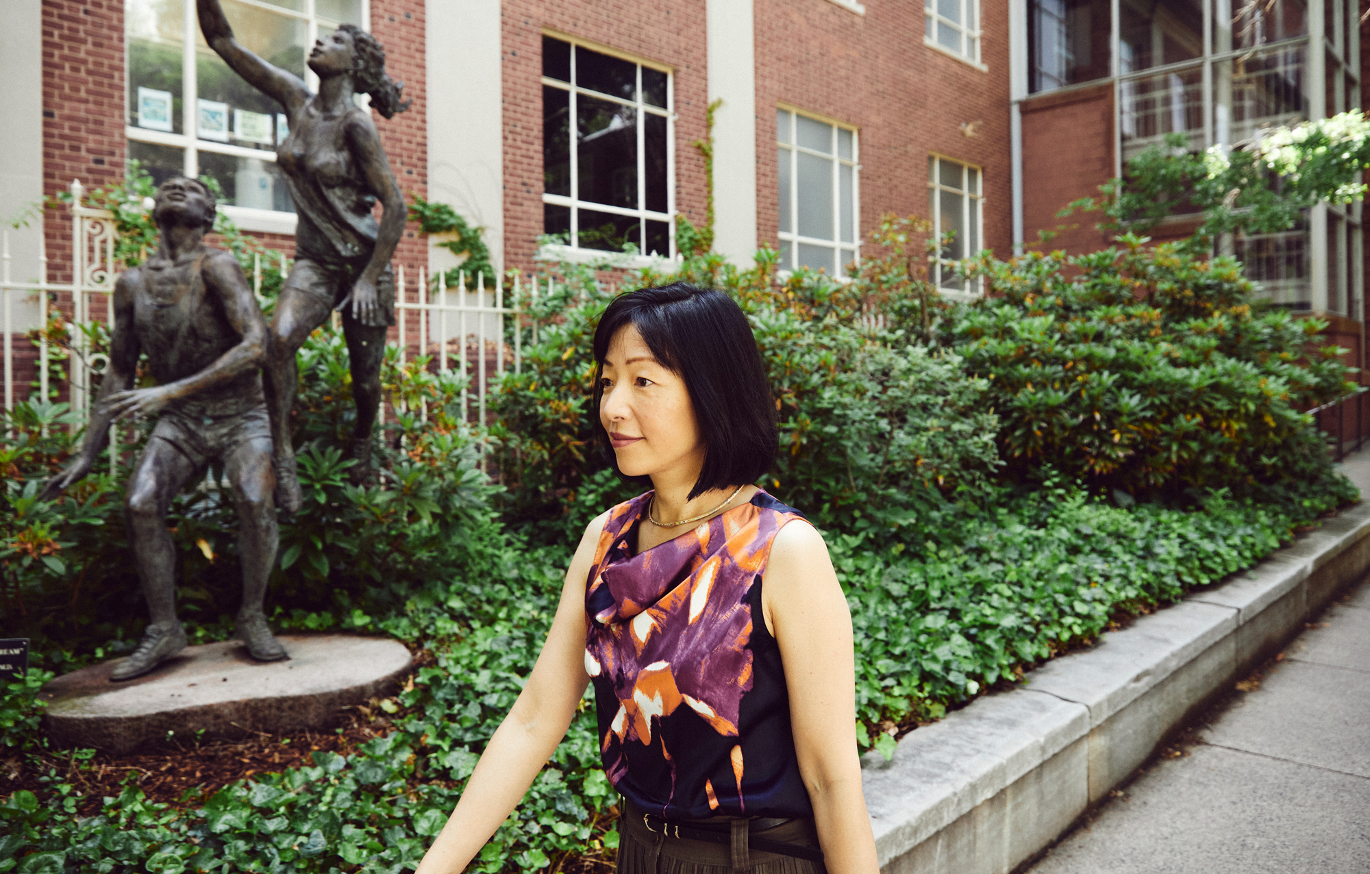
M 910 733 L 862 782 L 886 874 L 1008 874 L 1370 569 L 1370 503 Z

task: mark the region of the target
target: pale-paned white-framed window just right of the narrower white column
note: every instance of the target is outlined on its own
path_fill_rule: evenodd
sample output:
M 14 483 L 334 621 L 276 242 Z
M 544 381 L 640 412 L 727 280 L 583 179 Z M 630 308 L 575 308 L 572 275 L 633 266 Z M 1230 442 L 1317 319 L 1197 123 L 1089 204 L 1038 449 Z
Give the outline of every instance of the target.
M 860 256 L 856 129 L 775 110 L 780 267 L 843 275 Z

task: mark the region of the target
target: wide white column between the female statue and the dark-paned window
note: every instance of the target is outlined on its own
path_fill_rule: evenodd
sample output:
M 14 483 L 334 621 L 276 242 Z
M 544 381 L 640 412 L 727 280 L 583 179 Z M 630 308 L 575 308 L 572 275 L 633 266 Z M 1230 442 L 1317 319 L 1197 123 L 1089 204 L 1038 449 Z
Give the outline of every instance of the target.
M 427 197 L 484 227 L 490 262 L 503 270 L 500 0 L 429 3 L 426 11 Z M 430 271 L 455 266 L 451 252 L 429 245 Z

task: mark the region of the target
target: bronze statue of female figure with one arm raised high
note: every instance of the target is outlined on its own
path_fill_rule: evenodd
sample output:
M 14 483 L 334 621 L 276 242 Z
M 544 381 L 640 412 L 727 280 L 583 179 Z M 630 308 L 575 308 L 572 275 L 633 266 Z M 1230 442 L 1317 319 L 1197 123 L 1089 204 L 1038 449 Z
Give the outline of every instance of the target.
M 371 107 L 385 118 L 403 112 L 408 103 L 400 103 L 404 84 L 396 85 L 385 74 L 385 49 L 375 37 L 352 25 L 342 25 L 314 44 L 308 63 L 319 77 L 319 93 L 311 95 L 293 74 L 269 64 L 233 38 L 218 0 L 197 0 L 196 10 L 210 47 L 234 73 L 275 99 L 289 118 L 290 133 L 277 149 L 277 163 L 299 216 L 296 260 L 271 319 L 264 388 L 271 414 L 277 505 L 295 512 L 300 508 L 290 442 L 290 407 L 299 385 L 295 353 L 334 308 L 342 311 L 356 401 L 353 481 L 370 474 L 385 333 L 395 325 L 390 256 L 404 233 L 406 208 L 371 114 L 356 105 L 353 95 L 371 95 Z M 371 215 L 377 200 L 382 208 L 379 223 Z

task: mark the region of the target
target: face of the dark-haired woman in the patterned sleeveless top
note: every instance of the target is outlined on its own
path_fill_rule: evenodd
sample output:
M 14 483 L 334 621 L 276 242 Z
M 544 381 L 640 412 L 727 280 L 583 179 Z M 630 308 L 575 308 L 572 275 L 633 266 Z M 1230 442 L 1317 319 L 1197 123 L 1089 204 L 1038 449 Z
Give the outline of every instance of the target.
M 699 474 L 704 442 L 685 381 L 652 358 L 633 325 L 610 341 L 600 386 L 600 425 L 625 475 L 649 477 L 678 466 L 686 478 Z

